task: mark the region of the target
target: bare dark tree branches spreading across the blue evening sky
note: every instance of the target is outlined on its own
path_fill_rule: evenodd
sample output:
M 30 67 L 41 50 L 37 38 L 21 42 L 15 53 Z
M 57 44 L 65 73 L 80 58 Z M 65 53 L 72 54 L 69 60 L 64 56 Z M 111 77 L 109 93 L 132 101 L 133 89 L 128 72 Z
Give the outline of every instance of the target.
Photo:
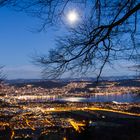
M 42 21 L 39 31 L 56 22 L 62 24 L 69 7 L 82 9 L 80 25 L 57 39 L 57 47 L 48 55 L 36 57 L 47 77 L 58 77 L 67 71 L 82 74 L 95 71 L 99 79 L 107 63 L 130 59 L 138 51 L 140 0 L 5 1 L 17 10 L 39 17 Z

